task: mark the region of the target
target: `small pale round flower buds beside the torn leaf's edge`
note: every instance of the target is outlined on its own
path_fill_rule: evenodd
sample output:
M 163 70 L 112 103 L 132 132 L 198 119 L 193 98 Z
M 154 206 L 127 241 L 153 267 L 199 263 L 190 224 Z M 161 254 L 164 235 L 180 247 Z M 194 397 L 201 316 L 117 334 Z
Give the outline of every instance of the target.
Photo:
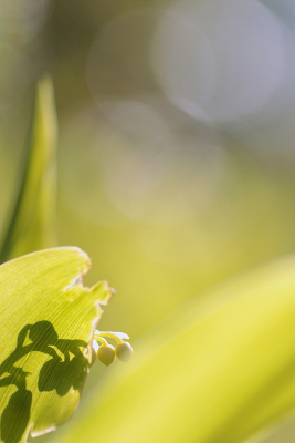
M 106 341 L 106 338 L 110 338 L 117 342 L 114 348 Z M 95 361 L 96 356 L 105 365 L 113 363 L 117 357 L 120 361 L 128 361 L 133 357 L 133 347 L 130 343 L 124 341 L 129 340 L 129 337 L 124 332 L 110 332 L 110 331 L 95 331 L 93 336 L 93 359 L 92 364 Z M 99 344 L 98 344 L 99 343 Z

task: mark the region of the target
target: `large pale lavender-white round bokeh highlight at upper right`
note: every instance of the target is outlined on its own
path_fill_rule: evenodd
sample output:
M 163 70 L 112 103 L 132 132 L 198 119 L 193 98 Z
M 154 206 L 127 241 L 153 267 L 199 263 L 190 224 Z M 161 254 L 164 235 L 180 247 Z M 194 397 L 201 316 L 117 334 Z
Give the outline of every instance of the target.
M 151 44 L 156 76 L 190 115 L 230 122 L 260 112 L 286 71 L 284 27 L 254 0 L 186 0 L 168 8 Z

